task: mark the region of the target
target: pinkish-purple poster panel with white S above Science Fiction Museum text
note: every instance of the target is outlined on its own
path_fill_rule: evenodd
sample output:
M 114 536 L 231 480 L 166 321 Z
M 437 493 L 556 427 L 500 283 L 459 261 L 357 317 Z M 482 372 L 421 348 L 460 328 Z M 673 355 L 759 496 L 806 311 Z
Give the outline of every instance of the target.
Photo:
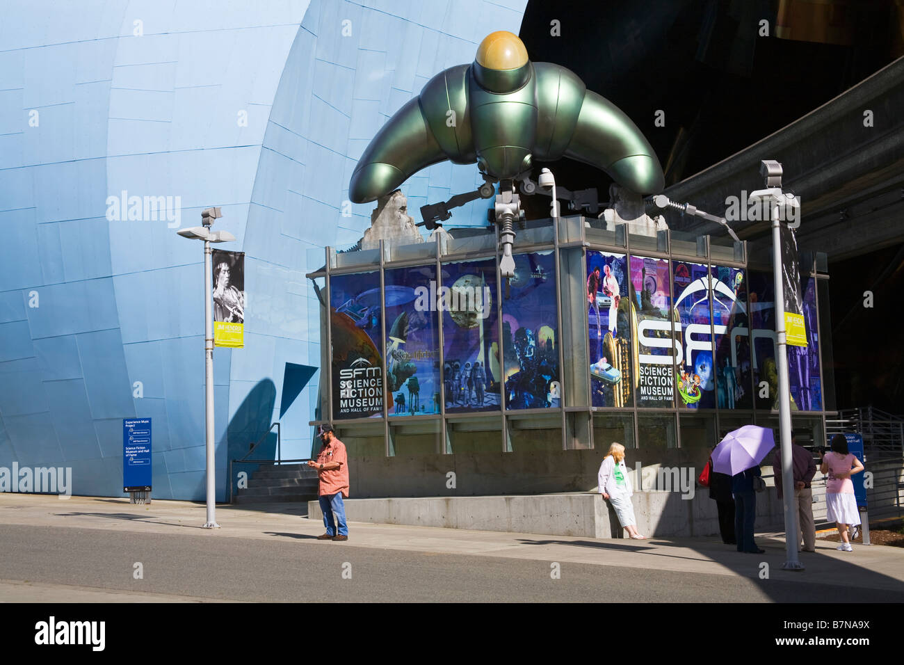
M 672 331 L 677 323 L 672 310 L 669 261 L 632 256 L 630 271 L 631 306 L 637 320 L 637 406 L 669 408 L 675 386 Z

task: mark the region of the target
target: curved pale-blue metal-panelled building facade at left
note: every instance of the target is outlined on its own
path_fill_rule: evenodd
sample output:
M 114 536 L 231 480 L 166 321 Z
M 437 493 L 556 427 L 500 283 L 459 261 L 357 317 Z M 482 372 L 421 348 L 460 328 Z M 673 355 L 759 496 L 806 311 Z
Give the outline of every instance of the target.
M 305 274 L 370 224 L 354 165 L 437 71 L 517 33 L 526 0 L 364 5 L 0 8 L 0 466 L 71 467 L 73 493 L 121 496 L 122 419 L 151 417 L 154 496 L 202 499 L 202 245 L 175 231 L 211 205 L 248 300 L 245 347 L 214 353 L 218 499 L 271 422 L 284 459 L 309 454 Z M 480 182 L 445 163 L 402 190 L 416 209 Z

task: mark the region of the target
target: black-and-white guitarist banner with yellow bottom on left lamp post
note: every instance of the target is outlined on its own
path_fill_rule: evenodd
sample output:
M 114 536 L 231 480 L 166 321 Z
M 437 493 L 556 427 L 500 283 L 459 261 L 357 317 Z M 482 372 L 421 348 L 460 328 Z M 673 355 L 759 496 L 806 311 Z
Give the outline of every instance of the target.
M 213 346 L 245 346 L 245 252 L 212 250 Z

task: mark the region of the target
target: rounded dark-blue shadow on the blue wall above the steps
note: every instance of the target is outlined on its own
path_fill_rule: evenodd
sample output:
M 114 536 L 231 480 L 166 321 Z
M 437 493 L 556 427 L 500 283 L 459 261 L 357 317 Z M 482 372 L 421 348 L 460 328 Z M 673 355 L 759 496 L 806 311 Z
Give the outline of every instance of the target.
M 270 379 L 259 381 L 251 392 L 245 397 L 226 429 L 226 468 L 229 470 L 231 460 L 240 460 L 250 450 L 251 446 L 259 442 L 266 435 L 263 442 L 250 455 L 256 461 L 275 461 L 277 454 L 277 433 L 268 432 L 273 417 L 273 407 L 276 404 L 277 388 Z M 240 471 L 246 471 L 250 476 L 257 470 L 259 464 L 233 464 L 232 465 L 232 489 L 235 496 L 236 480 Z M 227 490 L 227 497 L 229 491 Z

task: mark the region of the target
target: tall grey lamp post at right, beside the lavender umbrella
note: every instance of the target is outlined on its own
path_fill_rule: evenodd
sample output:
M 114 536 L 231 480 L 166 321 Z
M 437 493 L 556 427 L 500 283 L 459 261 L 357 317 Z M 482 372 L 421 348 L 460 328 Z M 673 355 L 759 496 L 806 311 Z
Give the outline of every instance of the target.
M 776 364 L 778 367 L 778 422 L 782 457 L 782 487 L 785 506 L 786 570 L 804 570 L 797 558 L 800 528 L 797 524 L 797 507 L 794 492 L 794 471 L 791 465 L 791 394 L 788 381 L 787 331 L 785 322 L 785 287 L 782 278 L 782 252 L 780 218 L 787 218 L 782 208 L 800 207 L 795 195 L 782 192 L 782 165 L 777 161 L 763 160 L 759 173 L 766 177 L 766 189 L 758 189 L 749 195 L 749 201 L 767 204 L 772 220 L 772 268 L 776 289 Z M 771 395 L 770 395 L 771 397 Z

